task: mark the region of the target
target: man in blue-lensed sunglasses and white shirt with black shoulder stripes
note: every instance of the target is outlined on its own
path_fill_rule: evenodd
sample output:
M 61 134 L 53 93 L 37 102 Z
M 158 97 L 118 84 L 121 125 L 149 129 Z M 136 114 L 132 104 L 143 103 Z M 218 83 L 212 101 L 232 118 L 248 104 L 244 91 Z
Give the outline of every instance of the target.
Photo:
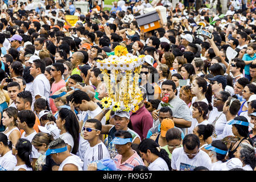
M 84 171 L 87 171 L 88 164 L 93 161 L 110 158 L 108 148 L 100 140 L 102 125 L 97 119 L 88 119 L 82 128 L 84 139 L 89 146 L 84 154 Z

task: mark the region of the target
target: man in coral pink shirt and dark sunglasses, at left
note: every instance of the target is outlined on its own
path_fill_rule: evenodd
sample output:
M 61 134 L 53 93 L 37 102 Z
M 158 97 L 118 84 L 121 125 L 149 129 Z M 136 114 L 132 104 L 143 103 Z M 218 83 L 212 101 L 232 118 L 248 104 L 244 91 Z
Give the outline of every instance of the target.
M 60 90 L 66 85 L 65 80 L 63 80 L 63 73 L 65 71 L 65 67 L 63 63 L 54 63 L 52 64 L 52 69 L 50 71 L 51 76 L 54 78 L 54 82 L 52 83 L 51 90 L 50 90 L 50 96 L 52 96 L 57 90 Z M 52 110 L 52 114 L 55 114 L 57 111 L 57 107 L 54 104 L 54 101 L 52 98 L 49 99 L 49 105 Z

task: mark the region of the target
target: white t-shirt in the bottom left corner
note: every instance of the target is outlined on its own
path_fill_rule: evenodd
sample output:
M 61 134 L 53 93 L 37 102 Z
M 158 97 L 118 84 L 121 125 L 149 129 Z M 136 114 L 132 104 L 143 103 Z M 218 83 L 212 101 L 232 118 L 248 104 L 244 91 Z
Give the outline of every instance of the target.
M 17 160 L 11 150 L 0 157 L 0 171 L 13 171 Z

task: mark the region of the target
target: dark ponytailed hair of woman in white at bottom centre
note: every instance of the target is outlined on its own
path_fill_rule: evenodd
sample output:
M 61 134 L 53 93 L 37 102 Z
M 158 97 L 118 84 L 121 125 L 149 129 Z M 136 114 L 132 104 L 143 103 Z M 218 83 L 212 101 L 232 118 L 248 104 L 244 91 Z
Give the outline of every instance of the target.
M 158 148 L 160 149 L 160 151 L 158 150 Z M 146 138 L 146 139 L 142 140 L 142 142 L 139 143 L 138 149 L 139 149 L 139 151 L 141 151 L 143 153 L 147 153 L 147 150 L 150 150 L 152 154 L 159 156 L 167 163 L 169 170 L 172 169 L 171 160 L 168 156 L 167 151 L 164 150 L 163 148 L 160 148 L 159 144 L 156 143 L 154 140 L 152 140 L 150 138 Z

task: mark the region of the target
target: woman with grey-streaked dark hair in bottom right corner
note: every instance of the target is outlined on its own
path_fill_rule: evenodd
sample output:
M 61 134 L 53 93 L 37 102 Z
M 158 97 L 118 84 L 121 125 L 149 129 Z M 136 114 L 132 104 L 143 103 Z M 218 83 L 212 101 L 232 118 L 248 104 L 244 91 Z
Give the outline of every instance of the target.
M 240 143 L 237 151 L 234 153 L 235 158 L 239 158 L 243 163 L 243 169 L 254 171 L 256 165 L 256 156 L 253 146 L 249 143 Z

